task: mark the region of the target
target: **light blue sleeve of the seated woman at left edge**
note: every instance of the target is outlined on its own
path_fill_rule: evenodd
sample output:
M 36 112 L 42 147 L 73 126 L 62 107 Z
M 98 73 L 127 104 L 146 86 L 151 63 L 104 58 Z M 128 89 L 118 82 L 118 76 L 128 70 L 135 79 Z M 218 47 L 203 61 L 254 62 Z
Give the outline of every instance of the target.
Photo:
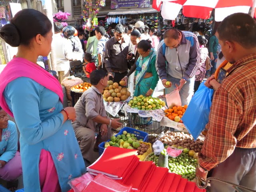
M 14 122 L 9 121 L 10 138 L 8 139 L 5 152 L 0 156 L 0 160 L 8 162 L 14 158 L 16 151 L 18 150 L 18 133 Z

